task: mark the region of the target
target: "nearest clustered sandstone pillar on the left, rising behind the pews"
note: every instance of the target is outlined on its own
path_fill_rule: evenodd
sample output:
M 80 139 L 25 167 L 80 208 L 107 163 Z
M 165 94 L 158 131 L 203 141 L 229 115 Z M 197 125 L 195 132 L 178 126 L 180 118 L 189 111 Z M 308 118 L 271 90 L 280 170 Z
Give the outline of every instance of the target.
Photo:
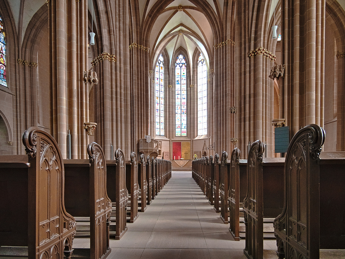
M 71 131 L 71 157 L 86 158 L 88 88 L 87 1 L 48 1 L 50 83 L 53 89 L 53 136 L 67 158 Z

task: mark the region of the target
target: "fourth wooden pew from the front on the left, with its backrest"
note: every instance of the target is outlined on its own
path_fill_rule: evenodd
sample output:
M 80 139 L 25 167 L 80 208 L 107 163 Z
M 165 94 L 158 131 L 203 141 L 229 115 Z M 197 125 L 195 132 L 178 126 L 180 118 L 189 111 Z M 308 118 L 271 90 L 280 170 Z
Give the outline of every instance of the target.
M 131 152 L 130 161 L 126 161 L 126 188 L 130 195 L 128 198 L 130 207 L 129 222 L 133 223 L 138 218 L 139 198 L 138 161 L 134 152 Z

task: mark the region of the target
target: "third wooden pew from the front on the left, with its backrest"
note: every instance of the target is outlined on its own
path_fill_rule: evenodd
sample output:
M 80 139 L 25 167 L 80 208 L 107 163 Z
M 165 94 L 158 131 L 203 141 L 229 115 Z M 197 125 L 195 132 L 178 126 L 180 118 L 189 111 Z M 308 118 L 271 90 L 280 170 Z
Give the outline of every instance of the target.
M 125 156 L 122 150 L 117 149 L 115 151 L 115 160 L 107 160 L 106 164 L 107 193 L 112 201 L 112 208 L 115 209 L 111 215 L 115 216 L 115 226 L 111 223 L 110 231 L 115 231 L 115 240 L 119 240 L 128 229 L 126 226 L 128 190 L 126 188 Z

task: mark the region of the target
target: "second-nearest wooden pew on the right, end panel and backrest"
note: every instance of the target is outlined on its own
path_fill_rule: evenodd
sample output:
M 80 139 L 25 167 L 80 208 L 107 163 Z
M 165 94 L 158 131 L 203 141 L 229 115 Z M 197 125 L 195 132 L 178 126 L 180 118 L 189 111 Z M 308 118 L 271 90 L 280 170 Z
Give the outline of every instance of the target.
M 263 218 L 279 215 L 283 205 L 284 158 L 265 158 L 264 144 L 257 140 L 249 149 L 247 195 L 243 200 L 248 258 L 263 257 Z

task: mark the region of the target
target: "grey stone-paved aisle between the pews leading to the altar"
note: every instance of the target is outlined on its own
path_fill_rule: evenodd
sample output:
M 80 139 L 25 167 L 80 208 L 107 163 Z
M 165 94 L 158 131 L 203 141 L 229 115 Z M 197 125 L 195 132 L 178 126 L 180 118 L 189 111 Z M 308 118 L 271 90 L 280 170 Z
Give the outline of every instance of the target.
M 134 223 L 127 223 L 128 231 L 121 240 L 110 240 L 108 258 L 245 259 L 245 240 L 232 241 L 229 225 L 219 215 L 190 171 L 172 172 L 147 210 L 139 212 Z M 275 254 L 275 240 L 264 242 L 264 249 Z

